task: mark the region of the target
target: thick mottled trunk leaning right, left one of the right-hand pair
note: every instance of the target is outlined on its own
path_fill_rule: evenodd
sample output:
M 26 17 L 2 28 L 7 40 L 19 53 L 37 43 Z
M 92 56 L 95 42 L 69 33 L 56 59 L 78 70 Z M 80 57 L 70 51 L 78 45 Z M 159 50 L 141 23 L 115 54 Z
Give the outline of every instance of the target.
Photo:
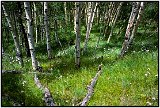
M 133 26 L 135 24 L 136 16 L 138 14 L 139 4 L 140 4 L 139 2 L 133 2 L 132 12 L 131 12 L 131 15 L 130 15 L 130 18 L 129 18 L 129 21 L 128 21 L 128 26 L 127 26 L 127 29 L 126 29 L 126 33 L 125 33 L 125 40 L 123 42 L 122 49 L 121 49 L 121 52 L 120 52 L 120 55 L 119 55 L 120 57 L 123 57 L 124 53 L 128 49 L 129 38 L 130 38 L 130 35 L 131 35 L 131 30 L 133 30 Z

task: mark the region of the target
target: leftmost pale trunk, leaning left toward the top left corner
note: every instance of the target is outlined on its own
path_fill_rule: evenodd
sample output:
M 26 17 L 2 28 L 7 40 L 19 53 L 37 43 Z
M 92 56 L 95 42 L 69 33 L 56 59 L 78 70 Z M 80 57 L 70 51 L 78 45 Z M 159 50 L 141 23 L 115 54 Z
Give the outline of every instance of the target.
M 16 58 L 17 60 L 19 61 L 19 64 L 21 66 L 23 66 L 23 59 L 22 59 L 22 53 L 21 53 L 21 50 L 20 50 L 20 46 L 19 46 L 19 42 L 18 42 L 18 39 L 17 39 L 17 35 L 16 35 L 16 32 L 12 26 L 12 22 L 7 14 L 7 11 L 5 10 L 5 7 L 4 7 L 4 4 L 2 3 L 2 9 L 4 11 L 4 15 L 6 17 L 6 20 L 8 22 L 8 25 L 9 25 L 9 29 L 11 31 L 11 34 L 13 36 L 13 40 L 14 40 L 14 44 L 15 44 L 15 47 L 16 47 Z

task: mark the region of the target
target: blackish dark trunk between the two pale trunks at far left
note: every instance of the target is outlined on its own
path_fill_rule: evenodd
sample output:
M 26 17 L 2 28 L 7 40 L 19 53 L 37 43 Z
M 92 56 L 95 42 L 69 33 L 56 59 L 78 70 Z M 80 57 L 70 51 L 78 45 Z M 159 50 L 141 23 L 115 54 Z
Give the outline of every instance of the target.
M 29 50 L 28 39 L 27 39 L 27 33 L 25 32 L 25 27 L 22 23 L 22 18 L 21 18 L 21 16 L 22 16 L 21 4 L 20 4 L 20 2 L 17 2 L 17 4 L 18 4 L 18 9 L 19 9 L 18 10 L 19 27 L 20 27 L 20 32 L 24 37 L 26 55 L 27 55 L 27 57 L 31 57 L 30 50 Z

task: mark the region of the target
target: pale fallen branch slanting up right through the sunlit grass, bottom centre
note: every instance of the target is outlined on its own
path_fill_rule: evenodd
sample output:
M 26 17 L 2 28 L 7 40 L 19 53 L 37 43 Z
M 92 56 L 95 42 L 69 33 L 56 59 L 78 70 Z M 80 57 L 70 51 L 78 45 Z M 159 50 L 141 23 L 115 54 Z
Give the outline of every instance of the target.
M 101 74 L 101 67 L 102 64 L 98 66 L 98 72 L 96 73 L 95 77 L 92 79 L 91 84 L 89 86 L 87 86 L 88 88 L 88 93 L 86 94 L 86 97 L 83 99 L 83 101 L 81 102 L 80 106 L 86 106 L 86 103 L 89 101 L 89 99 L 91 98 L 92 94 L 93 94 L 93 88 L 96 84 L 96 81 L 98 79 L 98 76 Z

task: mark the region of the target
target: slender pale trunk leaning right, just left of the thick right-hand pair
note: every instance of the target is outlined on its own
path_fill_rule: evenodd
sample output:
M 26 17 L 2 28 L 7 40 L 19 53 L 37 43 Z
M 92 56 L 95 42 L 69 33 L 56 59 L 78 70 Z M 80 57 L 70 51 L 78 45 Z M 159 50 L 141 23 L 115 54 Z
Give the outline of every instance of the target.
M 114 22 L 113 22 L 113 24 L 112 24 L 111 32 L 110 32 L 110 35 L 109 35 L 109 37 L 108 37 L 107 43 L 109 43 L 109 41 L 110 41 L 110 39 L 111 39 L 111 37 L 112 37 L 112 35 L 113 35 L 113 29 L 114 29 L 115 23 L 116 23 L 116 21 L 117 21 L 117 18 L 118 18 L 118 16 L 119 16 L 120 9 L 121 9 L 121 7 L 122 7 L 122 3 L 123 3 L 123 2 L 121 2 L 121 3 L 119 4 L 118 8 L 117 8 L 116 17 L 115 17 L 115 20 L 114 20 Z

